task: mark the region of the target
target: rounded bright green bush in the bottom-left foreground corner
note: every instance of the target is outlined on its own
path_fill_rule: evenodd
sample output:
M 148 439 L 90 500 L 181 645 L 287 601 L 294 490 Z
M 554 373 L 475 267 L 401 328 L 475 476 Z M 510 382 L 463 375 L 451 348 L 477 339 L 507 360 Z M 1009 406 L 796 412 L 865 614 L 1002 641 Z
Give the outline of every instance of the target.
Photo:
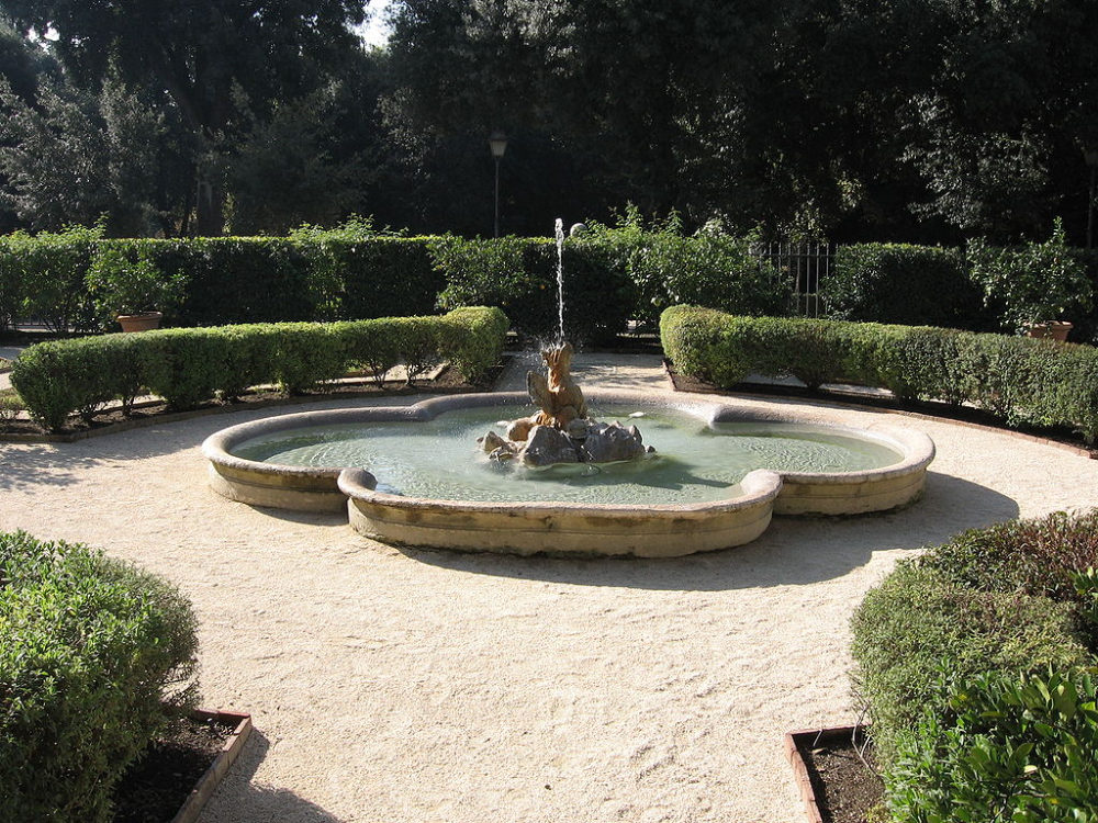
M 158 577 L 0 533 L 0 820 L 109 821 L 123 771 L 195 699 L 195 625 Z

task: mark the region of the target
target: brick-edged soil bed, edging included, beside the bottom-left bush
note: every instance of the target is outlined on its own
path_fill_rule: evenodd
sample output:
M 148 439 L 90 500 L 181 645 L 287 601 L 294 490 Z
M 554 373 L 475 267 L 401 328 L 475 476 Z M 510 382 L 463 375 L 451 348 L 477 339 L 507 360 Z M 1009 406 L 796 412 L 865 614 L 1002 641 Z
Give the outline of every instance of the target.
M 195 820 L 243 747 L 247 718 L 197 711 L 170 735 L 153 741 L 115 787 L 113 823 Z

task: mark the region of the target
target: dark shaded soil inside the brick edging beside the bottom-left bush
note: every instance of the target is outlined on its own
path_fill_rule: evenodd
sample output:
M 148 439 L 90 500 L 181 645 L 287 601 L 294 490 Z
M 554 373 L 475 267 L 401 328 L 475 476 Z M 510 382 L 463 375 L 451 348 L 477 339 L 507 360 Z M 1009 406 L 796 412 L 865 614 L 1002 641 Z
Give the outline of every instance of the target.
M 183 720 L 154 741 L 114 790 L 113 823 L 168 823 L 233 733 L 217 720 Z

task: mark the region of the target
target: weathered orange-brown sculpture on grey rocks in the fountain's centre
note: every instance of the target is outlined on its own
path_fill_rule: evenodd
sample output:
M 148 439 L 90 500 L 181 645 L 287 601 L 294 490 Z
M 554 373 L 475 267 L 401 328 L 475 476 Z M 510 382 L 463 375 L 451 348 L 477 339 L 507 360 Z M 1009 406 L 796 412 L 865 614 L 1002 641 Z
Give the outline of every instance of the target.
M 556 463 L 613 463 L 656 451 L 636 426 L 587 417 L 583 392 L 572 380 L 572 343 L 544 349 L 546 374 L 529 372 L 526 387 L 538 412 L 512 421 L 506 437 L 489 431 L 477 440 L 492 460 L 528 466 Z

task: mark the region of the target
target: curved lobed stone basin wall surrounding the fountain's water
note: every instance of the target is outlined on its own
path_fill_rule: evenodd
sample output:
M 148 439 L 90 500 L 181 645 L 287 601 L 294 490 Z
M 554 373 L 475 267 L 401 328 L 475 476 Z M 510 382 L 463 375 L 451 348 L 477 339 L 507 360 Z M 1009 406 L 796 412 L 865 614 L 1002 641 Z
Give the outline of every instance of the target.
M 843 473 L 755 470 L 736 497 L 666 506 L 573 503 L 477 503 L 391 495 L 374 489 L 362 469 L 316 469 L 244 460 L 234 446 L 264 435 L 310 426 L 433 419 L 477 406 L 529 407 L 525 393 L 463 394 L 411 406 L 306 412 L 242 424 L 203 443 L 212 487 L 229 499 L 296 510 L 341 510 L 360 533 L 414 546 L 517 554 L 677 556 L 741 545 L 758 538 L 777 515 L 856 515 L 906 506 L 923 491 L 934 444 L 920 432 L 874 425 L 852 429 L 821 425 L 809 409 L 730 405 L 719 399 L 587 392 L 598 405 L 671 408 L 710 422 L 776 422 L 876 441 L 900 455 L 881 469 Z M 517 410 L 517 409 L 516 409 Z M 516 414 L 516 416 L 518 416 Z

